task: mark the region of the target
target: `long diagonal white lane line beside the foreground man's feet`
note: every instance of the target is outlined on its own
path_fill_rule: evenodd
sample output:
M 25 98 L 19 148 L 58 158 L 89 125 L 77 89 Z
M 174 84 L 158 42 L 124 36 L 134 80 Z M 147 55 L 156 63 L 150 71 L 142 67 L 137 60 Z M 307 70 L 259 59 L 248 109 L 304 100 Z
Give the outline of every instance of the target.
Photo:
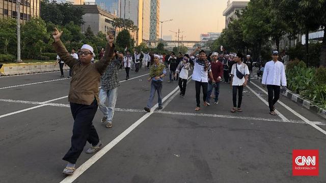
M 177 86 L 170 94 L 162 99 L 162 102 L 166 101 L 170 96 L 172 96 L 177 90 L 179 86 Z M 122 132 L 118 137 L 112 140 L 110 143 L 105 145 L 101 150 L 99 150 L 95 155 L 93 155 L 90 159 L 88 159 L 83 165 L 79 166 L 75 172 L 67 176 L 60 183 L 68 183 L 73 182 L 76 178 L 82 175 L 88 168 L 90 168 L 96 161 L 98 161 L 102 156 L 104 156 L 110 149 L 112 149 L 117 143 L 119 143 L 123 138 L 125 138 L 131 131 L 133 131 L 136 127 L 138 127 L 145 119 L 147 119 L 150 115 L 154 113 L 154 110 L 158 107 L 158 103 L 151 108 L 151 112 L 146 113 L 140 119 L 138 119 L 134 124 L 132 124 L 129 128 L 127 128 L 124 132 Z

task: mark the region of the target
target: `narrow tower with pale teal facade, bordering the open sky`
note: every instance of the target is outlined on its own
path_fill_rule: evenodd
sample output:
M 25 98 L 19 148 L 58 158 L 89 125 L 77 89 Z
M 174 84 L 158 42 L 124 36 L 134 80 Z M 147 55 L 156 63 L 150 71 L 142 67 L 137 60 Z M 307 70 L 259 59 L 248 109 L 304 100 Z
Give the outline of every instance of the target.
M 151 0 L 151 16 L 149 28 L 150 41 L 156 41 L 159 38 L 159 3 L 160 0 Z

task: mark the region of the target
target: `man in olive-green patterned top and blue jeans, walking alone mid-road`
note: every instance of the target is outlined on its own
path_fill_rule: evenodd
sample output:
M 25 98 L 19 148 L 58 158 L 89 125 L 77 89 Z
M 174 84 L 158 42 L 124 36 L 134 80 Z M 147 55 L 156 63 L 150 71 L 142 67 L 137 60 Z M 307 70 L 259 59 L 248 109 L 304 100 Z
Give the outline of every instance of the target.
M 154 55 L 154 64 L 150 68 L 148 81 L 151 81 L 151 92 L 147 102 L 147 106 L 144 107 L 146 112 L 151 111 L 154 95 L 157 91 L 158 109 L 162 109 L 162 82 L 163 77 L 167 74 L 165 65 L 159 62 L 159 55 Z

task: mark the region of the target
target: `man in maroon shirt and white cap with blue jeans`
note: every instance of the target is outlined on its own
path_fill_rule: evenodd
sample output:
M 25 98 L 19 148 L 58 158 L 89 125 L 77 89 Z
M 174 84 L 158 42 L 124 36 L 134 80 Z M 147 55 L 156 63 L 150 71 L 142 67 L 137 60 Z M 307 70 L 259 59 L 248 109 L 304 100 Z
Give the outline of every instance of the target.
M 216 83 L 213 83 L 212 80 L 208 78 L 208 91 L 207 91 L 207 98 L 206 98 L 207 105 L 210 105 L 209 104 L 210 95 L 213 92 L 213 88 L 215 88 L 214 104 L 219 103 L 220 81 L 222 80 L 222 75 L 223 75 L 223 64 L 218 60 L 218 56 L 219 56 L 218 53 L 216 52 L 212 53 L 212 62 L 210 63 L 210 65 L 211 65 L 212 75 Z

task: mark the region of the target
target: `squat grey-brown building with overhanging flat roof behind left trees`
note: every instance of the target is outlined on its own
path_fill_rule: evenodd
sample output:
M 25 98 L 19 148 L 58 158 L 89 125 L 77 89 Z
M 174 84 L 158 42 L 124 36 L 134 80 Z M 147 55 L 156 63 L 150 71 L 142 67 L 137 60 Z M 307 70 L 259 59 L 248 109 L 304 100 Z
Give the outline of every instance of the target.
M 82 33 L 85 33 L 88 26 L 92 28 L 93 33 L 96 35 L 98 32 L 107 33 L 116 29 L 112 26 L 114 15 L 100 9 L 98 5 L 74 5 L 84 9 L 83 15 L 84 24 L 82 25 Z

